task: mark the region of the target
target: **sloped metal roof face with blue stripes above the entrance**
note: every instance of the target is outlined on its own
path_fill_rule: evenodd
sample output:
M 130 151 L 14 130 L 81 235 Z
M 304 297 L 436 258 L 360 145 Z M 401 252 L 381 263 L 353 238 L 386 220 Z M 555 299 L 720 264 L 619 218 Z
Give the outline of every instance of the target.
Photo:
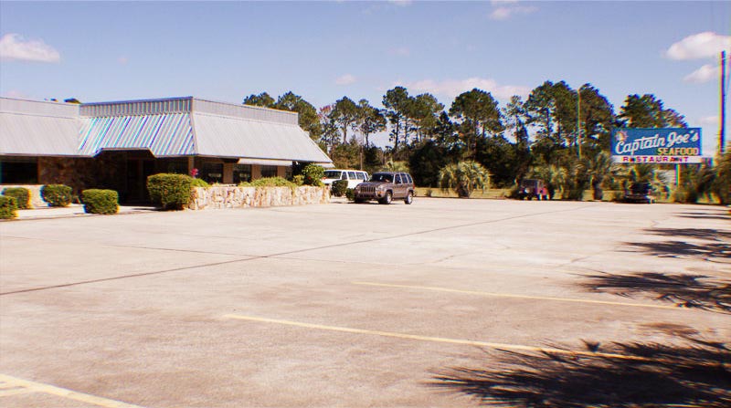
M 79 151 L 96 155 L 102 149 L 149 149 L 155 157 L 194 154 L 187 113 L 82 118 Z

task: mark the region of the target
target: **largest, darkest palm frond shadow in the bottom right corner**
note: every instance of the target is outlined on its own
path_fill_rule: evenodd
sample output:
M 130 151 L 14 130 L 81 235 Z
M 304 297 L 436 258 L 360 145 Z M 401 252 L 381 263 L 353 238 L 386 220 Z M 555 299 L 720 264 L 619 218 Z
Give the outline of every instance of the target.
M 686 339 L 683 346 L 585 341 L 591 353 L 488 351 L 481 368 L 434 373 L 430 386 L 471 395 L 501 407 L 731 406 L 731 350 L 725 344 Z

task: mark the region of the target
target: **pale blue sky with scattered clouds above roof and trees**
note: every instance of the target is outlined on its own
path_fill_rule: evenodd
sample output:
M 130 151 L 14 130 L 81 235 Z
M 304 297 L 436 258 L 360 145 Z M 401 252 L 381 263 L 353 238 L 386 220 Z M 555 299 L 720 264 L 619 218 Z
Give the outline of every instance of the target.
M 731 2 L 0 0 L 4 97 L 240 103 L 291 90 L 317 108 L 344 96 L 380 107 L 404 86 L 449 109 L 473 88 L 504 106 L 565 80 L 617 111 L 630 94 L 655 95 L 703 128 L 705 155 L 718 141 L 722 49 Z

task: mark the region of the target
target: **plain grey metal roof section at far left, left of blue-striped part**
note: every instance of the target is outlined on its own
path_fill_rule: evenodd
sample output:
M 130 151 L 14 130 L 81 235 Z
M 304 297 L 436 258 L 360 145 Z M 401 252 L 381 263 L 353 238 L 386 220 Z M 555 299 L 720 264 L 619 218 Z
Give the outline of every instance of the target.
M 79 156 L 79 105 L 0 98 L 0 154 Z

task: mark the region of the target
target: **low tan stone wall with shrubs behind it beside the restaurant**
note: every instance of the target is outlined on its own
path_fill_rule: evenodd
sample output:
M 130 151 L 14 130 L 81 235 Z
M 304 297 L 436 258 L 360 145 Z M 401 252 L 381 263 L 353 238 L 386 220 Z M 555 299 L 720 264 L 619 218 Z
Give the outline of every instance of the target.
M 191 210 L 275 207 L 282 205 L 330 203 L 327 187 L 236 187 L 217 185 L 196 187 L 188 205 Z

